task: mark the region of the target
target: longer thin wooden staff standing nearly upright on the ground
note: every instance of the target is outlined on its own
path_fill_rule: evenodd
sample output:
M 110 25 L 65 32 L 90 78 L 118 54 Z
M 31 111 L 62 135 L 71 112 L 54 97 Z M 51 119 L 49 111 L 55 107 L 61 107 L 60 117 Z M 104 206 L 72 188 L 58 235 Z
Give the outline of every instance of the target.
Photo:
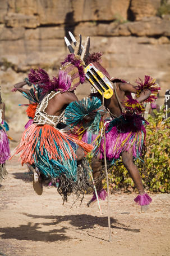
M 103 94 L 102 105 L 104 107 L 104 94 Z M 108 179 L 108 171 L 107 171 L 107 161 L 105 155 L 105 127 L 104 127 L 104 118 L 102 116 L 102 124 L 103 124 L 103 135 L 104 135 L 104 167 L 105 167 L 105 174 L 107 179 L 107 209 L 108 209 L 108 229 L 109 229 L 109 242 L 111 242 L 111 217 L 110 217 L 110 198 L 109 198 L 109 179 Z

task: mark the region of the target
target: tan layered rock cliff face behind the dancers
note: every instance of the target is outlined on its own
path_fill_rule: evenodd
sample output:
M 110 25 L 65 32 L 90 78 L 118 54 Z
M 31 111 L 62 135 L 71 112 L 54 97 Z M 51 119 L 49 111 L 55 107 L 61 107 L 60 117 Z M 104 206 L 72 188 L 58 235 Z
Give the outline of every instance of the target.
M 1 0 L 0 82 L 11 88 L 30 67 L 56 73 L 68 53 L 64 36 L 90 36 L 111 76 L 170 83 L 170 16 L 156 16 L 161 0 Z M 86 95 L 85 87 L 78 92 Z M 161 101 L 161 98 L 160 98 Z M 163 101 L 163 99 L 162 99 Z

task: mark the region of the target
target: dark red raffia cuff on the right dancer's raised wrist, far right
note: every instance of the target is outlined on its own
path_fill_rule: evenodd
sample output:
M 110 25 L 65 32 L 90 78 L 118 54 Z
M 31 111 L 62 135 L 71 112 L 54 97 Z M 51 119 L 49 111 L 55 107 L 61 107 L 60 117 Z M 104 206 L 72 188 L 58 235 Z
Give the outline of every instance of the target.
M 160 87 L 157 83 L 155 83 L 155 79 L 153 79 L 150 76 L 145 76 L 145 81 L 141 80 L 136 80 L 136 83 L 138 85 L 138 90 L 136 91 L 136 97 L 138 98 L 140 93 L 143 90 L 150 90 L 151 94 L 149 95 L 148 99 L 144 100 L 145 102 L 152 102 L 155 99 L 157 99 L 158 92 L 160 91 Z

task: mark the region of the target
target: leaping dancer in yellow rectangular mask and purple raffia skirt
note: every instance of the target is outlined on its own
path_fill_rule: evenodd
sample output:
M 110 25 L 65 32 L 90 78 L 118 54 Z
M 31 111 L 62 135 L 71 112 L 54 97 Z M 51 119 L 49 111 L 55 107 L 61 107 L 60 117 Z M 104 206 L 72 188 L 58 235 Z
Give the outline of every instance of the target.
M 123 165 L 139 191 L 135 202 L 141 205 L 142 211 L 145 211 L 148 209 L 151 198 L 144 191 L 135 160 L 144 157 L 146 147 L 145 125 L 148 122 L 141 116 L 145 111 L 142 103 L 154 101 L 157 98 L 160 87 L 150 76 L 145 76 L 144 81 L 139 78 L 136 81 L 137 85 L 132 85 L 118 78 L 111 78 L 108 72 L 100 65 L 99 54 L 89 55 L 88 59 L 89 63 L 88 60 L 86 61 L 86 77 L 94 90 L 89 99 L 83 99 L 79 104 L 71 103 L 67 107 L 67 124 L 72 127 L 74 133 L 81 140 L 88 143 L 91 142 L 94 145 L 93 154 L 91 155 L 91 167 L 95 185 L 98 189 L 98 196 L 104 200 L 106 192 L 102 186 L 102 163 L 104 160 L 102 120 L 97 109 L 92 109 L 93 112 L 96 112 L 94 122 L 89 122 L 88 124 L 86 119 L 91 108 L 91 102 L 94 105 L 94 103 L 99 102 L 98 100 L 100 100 L 100 104 L 104 101 L 105 109 L 107 109 L 110 116 L 110 120 L 104 121 L 107 163 L 111 167 L 122 157 Z M 132 94 L 136 95 L 135 99 L 132 98 Z M 76 108 L 76 112 L 73 113 L 71 109 L 74 108 Z M 96 200 L 94 193 L 93 198 L 88 202 L 88 206 Z

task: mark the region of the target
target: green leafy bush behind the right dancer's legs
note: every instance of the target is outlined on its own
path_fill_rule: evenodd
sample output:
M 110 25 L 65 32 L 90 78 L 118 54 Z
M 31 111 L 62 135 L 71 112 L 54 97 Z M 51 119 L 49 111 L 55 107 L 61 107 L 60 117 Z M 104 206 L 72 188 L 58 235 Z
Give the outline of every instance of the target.
M 170 192 L 170 141 L 169 121 L 164 120 L 164 107 L 160 112 L 154 111 L 154 117 L 148 116 L 146 127 L 146 155 L 144 165 L 137 160 L 143 184 L 151 192 Z M 111 192 L 121 189 L 124 192 L 135 190 L 135 185 L 123 164 L 117 163 L 109 169 L 109 186 Z M 104 187 L 106 187 L 104 180 Z

